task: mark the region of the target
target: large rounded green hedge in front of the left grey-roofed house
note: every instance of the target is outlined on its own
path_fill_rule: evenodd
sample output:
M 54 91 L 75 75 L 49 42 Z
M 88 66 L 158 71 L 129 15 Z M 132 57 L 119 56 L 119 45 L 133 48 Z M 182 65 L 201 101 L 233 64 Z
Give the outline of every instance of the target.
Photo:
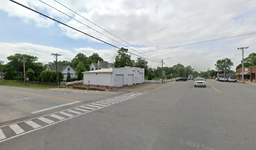
M 59 81 L 63 81 L 64 75 L 60 71 L 58 72 Z M 56 82 L 56 71 L 42 71 L 40 74 L 42 82 L 55 83 Z

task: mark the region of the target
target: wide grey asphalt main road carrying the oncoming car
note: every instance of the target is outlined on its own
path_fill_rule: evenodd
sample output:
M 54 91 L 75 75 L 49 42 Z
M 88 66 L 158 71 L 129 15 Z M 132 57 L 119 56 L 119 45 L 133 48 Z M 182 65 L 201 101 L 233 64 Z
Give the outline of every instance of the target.
M 166 83 L 83 103 L 44 114 L 53 121 L 48 125 L 38 118 L 0 123 L 6 136 L 0 149 L 256 149 L 256 86 L 207 82 L 206 88 L 194 88 L 193 81 Z

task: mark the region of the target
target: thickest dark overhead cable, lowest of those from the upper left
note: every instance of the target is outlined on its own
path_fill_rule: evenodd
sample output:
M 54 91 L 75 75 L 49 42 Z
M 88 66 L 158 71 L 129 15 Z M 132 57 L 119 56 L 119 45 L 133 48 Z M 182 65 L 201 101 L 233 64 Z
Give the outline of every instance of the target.
M 112 46 L 112 47 L 115 47 L 115 48 L 117 48 L 117 49 L 120 49 L 120 47 L 114 46 L 113 44 L 110 44 L 109 42 L 105 42 L 105 41 L 103 41 L 103 40 L 101 40 L 101 39 L 99 39 L 99 38 L 97 38 L 97 37 L 91 36 L 90 34 L 87 34 L 87 33 L 83 32 L 83 31 L 80 31 L 80 30 L 76 29 L 75 27 L 68 26 L 67 24 L 65 24 L 65 23 L 63 23 L 63 22 L 61 22 L 61 21 L 58 21 L 58 20 L 56 20 L 56 19 L 53 19 L 53 18 L 50 17 L 50 16 L 47 16 L 46 14 L 43 14 L 43 13 L 41 13 L 41 12 L 38 12 L 38 11 L 34 10 L 34 9 L 31 9 L 31 8 L 29 8 L 28 6 L 24 6 L 23 4 L 21 4 L 21 3 L 19 3 L 19 2 L 16 2 L 16 1 L 13 1 L 13 0 L 9 0 L 9 1 L 14 2 L 15 4 L 18 4 L 19 6 L 22 6 L 23 8 L 29 9 L 30 11 L 36 12 L 37 14 L 40 14 L 41 16 L 45 16 L 45 17 L 47 17 L 48 19 L 51 19 L 51 20 L 53 20 L 53 21 L 55 21 L 55 22 L 58 22 L 59 24 L 62 24 L 63 26 L 70 27 L 71 29 L 73 29 L 73 30 L 75 30 L 75 31 L 78 31 L 78 32 L 81 32 L 81 33 L 83 33 L 83 34 L 85 34 L 85 35 L 87 35 L 87 36 L 90 36 L 90 37 L 92 37 L 93 39 L 97 39 L 98 41 L 104 42 L 105 44 L 108 44 L 108 45 L 110 45 L 110 46 Z M 137 54 L 131 53 L 131 52 L 129 52 L 129 51 L 127 51 L 127 53 L 133 54 L 133 55 L 138 56 L 138 57 L 140 57 L 140 58 L 144 58 L 144 57 L 141 57 L 141 56 L 139 56 L 139 55 L 137 55 Z M 147 60 L 150 60 L 150 61 L 154 61 L 154 60 L 148 59 L 148 58 L 144 58 L 144 59 L 147 59 Z M 159 61 L 155 61 L 155 62 L 160 63 Z

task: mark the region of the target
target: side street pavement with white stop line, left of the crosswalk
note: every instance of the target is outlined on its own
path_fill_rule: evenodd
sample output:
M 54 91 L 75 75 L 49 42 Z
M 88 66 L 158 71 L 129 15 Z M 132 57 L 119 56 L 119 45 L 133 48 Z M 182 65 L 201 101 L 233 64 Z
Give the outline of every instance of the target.
M 51 108 L 65 109 L 83 101 L 97 101 L 97 99 L 108 98 L 115 94 L 118 93 L 63 93 L 0 86 L 0 123 L 30 116 L 34 113 L 45 113 Z

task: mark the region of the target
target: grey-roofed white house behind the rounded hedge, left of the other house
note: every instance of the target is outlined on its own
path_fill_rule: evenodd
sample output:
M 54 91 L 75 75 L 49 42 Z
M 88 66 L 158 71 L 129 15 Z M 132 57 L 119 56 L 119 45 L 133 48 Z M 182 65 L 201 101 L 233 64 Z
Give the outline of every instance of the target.
M 56 71 L 56 65 L 48 65 L 46 67 L 46 70 Z M 64 74 L 64 80 L 67 79 L 68 72 L 70 73 L 71 78 L 77 78 L 77 75 L 75 74 L 75 70 L 70 65 L 67 65 L 67 66 L 58 65 L 58 71 Z

